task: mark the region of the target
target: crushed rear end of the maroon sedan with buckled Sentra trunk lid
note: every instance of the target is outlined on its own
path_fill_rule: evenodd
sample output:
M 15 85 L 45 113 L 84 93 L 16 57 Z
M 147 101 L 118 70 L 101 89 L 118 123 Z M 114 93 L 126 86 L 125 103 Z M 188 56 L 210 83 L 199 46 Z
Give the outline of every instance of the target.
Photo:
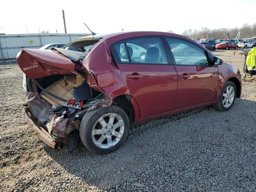
M 17 55 L 24 73 L 25 119 L 52 148 L 62 148 L 70 133 L 78 132 L 86 112 L 112 104 L 94 73 L 82 65 L 89 51 L 24 49 Z

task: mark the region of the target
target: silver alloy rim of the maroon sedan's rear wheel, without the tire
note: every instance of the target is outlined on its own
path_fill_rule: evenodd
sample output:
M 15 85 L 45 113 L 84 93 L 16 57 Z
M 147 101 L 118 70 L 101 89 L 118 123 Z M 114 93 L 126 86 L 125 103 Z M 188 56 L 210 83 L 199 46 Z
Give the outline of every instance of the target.
M 124 134 L 124 121 L 115 113 L 101 116 L 92 128 L 92 141 L 99 148 L 116 145 Z

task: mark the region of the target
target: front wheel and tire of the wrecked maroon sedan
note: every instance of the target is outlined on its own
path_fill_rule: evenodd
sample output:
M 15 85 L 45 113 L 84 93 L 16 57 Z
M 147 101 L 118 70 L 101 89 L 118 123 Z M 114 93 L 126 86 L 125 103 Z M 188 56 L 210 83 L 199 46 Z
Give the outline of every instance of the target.
M 232 99 L 232 96 L 230 96 L 229 101 L 227 101 L 227 99 L 226 99 L 226 101 L 224 101 L 224 99 L 227 98 L 226 96 L 224 96 L 224 93 L 226 94 L 227 93 L 227 88 L 229 88 L 229 90 L 230 90 L 231 87 L 233 88 L 233 91 L 231 90 L 230 95 L 234 94 L 233 99 Z M 232 100 L 231 103 L 230 103 L 230 99 Z M 236 100 L 236 85 L 231 81 L 227 81 L 226 84 L 223 86 L 221 92 L 220 92 L 218 102 L 213 104 L 212 106 L 216 110 L 227 111 L 233 106 L 235 100 Z

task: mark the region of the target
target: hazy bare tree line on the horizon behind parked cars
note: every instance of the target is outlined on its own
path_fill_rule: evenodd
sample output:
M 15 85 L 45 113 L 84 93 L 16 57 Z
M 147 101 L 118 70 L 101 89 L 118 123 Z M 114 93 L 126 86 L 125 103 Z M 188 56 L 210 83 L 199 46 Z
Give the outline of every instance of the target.
M 168 32 L 173 32 L 169 30 Z M 249 25 L 245 23 L 241 28 L 219 28 L 219 29 L 209 29 L 207 27 L 201 28 L 201 30 L 192 30 L 192 28 L 182 32 L 183 36 L 186 36 L 191 39 L 199 40 L 204 34 L 208 33 L 208 38 L 212 39 L 229 39 L 228 34 L 231 39 L 234 39 L 236 35 L 240 32 L 239 38 L 252 38 L 256 36 L 256 23 Z M 206 36 L 204 36 L 206 38 Z

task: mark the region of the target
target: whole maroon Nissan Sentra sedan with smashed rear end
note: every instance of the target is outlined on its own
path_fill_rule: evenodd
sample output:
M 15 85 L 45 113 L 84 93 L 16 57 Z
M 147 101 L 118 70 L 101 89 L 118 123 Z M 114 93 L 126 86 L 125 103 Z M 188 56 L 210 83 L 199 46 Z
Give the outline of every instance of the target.
M 124 143 L 130 124 L 212 105 L 227 111 L 241 94 L 238 68 L 193 40 L 166 32 L 78 39 L 55 50 L 24 49 L 24 115 L 52 148 L 97 154 Z

